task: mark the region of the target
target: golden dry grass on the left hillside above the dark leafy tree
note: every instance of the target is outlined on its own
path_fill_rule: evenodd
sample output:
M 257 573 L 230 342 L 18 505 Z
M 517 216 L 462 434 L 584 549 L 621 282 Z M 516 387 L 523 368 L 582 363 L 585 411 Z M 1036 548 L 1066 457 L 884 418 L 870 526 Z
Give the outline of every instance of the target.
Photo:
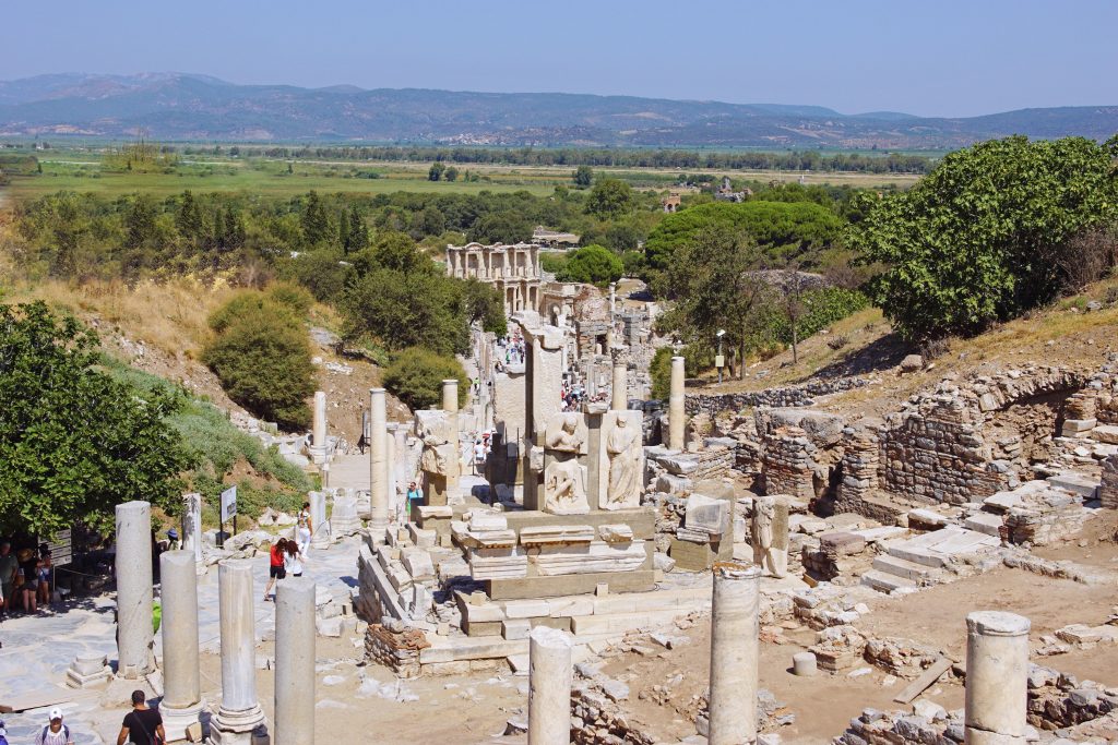
M 197 359 L 209 336 L 206 319 L 236 290 L 224 283 L 206 286 L 191 278 L 143 281 L 129 287 L 119 281 L 78 285 L 46 280 L 17 286 L 15 302 L 41 299 L 85 319 L 107 324 L 130 340 L 155 346 L 172 356 Z

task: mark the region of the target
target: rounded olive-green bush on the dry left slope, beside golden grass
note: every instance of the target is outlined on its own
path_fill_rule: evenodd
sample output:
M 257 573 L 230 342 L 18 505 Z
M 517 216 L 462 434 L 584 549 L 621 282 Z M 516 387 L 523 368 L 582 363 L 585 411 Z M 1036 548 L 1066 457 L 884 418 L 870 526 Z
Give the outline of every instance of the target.
M 314 392 L 314 365 L 302 318 L 281 299 L 247 290 L 218 308 L 202 360 L 253 416 L 302 429 L 311 421 L 306 398 Z

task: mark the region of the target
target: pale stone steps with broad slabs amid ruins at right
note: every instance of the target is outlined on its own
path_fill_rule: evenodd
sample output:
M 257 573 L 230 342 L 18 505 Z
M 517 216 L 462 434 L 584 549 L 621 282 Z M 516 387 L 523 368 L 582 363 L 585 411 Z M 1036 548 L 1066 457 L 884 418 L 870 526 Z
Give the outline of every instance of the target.
M 893 541 L 885 544 L 885 553 L 873 560 L 872 569 L 862 574 L 862 584 L 879 592 L 916 592 L 942 581 L 944 567 L 953 558 L 988 553 L 999 545 L 994 536 L 956 526 Z

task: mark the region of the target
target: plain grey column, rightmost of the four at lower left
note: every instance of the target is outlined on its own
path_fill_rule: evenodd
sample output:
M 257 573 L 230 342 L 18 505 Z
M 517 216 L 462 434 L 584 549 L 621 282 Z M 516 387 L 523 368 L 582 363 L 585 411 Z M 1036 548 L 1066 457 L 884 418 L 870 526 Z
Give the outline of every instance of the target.
M 305 576 L 276 591 L 275 745 L 314 742 L 314 593 Z

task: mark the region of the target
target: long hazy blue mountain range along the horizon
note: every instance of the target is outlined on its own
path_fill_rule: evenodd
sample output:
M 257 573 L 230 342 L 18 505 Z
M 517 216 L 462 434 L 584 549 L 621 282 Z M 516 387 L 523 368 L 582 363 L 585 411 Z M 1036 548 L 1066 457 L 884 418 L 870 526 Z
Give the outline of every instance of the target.
M 936 150 L 1118 132 L 1118 106 L 966 118 L 822 106 L 566 93 L 235 85 L 202 75 L 41 75 L 0 82 L 0 136 L 237 142 Z

